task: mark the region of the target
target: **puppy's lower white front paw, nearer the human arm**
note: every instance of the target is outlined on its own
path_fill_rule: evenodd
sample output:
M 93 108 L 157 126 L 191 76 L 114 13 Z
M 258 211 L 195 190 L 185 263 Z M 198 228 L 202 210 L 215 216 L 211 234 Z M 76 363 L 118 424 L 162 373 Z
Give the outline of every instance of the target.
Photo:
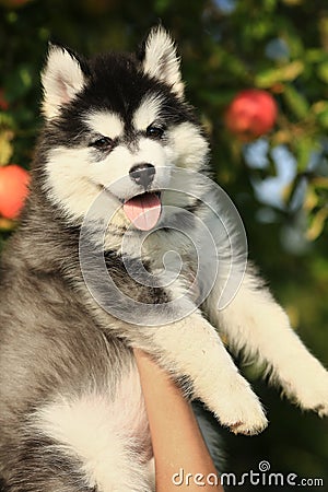
M 219 422 L 235 434 L 258 434 L 268 425 L 258 397 L 242 376 L 221 388 L 219 398 L 209 407 Z

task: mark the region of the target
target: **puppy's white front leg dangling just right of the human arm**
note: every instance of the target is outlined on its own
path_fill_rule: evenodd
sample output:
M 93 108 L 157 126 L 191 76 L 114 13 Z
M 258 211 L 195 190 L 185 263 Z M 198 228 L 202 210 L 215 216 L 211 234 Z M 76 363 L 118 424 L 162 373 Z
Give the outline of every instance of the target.
M 152 353 L 166 371 L 189 378 L 218 420 L 234 432 L 253 434 L 267 425 L 249 384 L 238 373 L 214 328 L 195 312 L 187 318 L 155 328 L 143 327 L 136 345 Z

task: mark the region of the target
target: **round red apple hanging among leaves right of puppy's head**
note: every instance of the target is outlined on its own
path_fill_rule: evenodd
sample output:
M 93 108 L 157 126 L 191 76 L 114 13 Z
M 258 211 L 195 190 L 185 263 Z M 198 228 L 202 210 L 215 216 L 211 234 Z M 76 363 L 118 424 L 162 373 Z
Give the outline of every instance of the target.
M 253 140 L 268 133 L 277 119 L 274 98 L 266 91 L 248 89 L 231 102 L 224 121 L 226 128 L 241 140 Z

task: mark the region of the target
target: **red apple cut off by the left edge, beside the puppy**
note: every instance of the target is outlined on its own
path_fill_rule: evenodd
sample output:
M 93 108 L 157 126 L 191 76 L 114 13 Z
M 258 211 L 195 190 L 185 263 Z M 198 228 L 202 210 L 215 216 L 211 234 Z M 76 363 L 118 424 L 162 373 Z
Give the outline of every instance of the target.
M 30 174 L 16 164 L 0 167 L 0 215 L 16 219 L 28 192 Z

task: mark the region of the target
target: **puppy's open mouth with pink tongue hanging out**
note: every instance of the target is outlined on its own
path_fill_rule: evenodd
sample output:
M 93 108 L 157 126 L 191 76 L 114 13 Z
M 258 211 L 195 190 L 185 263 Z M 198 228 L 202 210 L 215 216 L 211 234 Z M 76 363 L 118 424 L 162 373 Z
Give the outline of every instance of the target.
M 141 231 L 150 231 L 161 215 L 161 200 L 155 194 L 143 194 L 124 204 L 124 211 L 132 224 Z

